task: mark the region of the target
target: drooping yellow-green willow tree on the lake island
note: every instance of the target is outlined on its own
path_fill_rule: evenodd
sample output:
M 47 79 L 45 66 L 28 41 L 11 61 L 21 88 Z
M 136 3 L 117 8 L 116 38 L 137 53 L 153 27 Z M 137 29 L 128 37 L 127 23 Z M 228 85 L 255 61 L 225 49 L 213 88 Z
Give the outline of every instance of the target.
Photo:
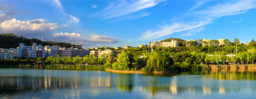
M 151 53 L 147 59 L 147 65 L 144 67 L 143 72 L 156 72 L 164 71 L 173 65 L 173 59 L 169 54 L 166 53 Z

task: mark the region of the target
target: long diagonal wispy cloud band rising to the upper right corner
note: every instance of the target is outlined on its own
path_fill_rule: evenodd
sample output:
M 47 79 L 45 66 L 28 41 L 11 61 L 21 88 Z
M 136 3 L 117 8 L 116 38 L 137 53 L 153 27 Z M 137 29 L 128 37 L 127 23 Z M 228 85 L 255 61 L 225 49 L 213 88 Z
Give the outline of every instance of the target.
M 217 18 L 243 14 L 254 8 L 256 8 L 256 1 L 254 0 L 218 3 L 205 10 L 189 11 L 186 13 L 187 19 L 184 19 L 185 21 L 173 22 L 159 26 L 157 29 L 146 30 L 138 40 L 152 40 L 165 35 L 204 27 L 213 23 Z

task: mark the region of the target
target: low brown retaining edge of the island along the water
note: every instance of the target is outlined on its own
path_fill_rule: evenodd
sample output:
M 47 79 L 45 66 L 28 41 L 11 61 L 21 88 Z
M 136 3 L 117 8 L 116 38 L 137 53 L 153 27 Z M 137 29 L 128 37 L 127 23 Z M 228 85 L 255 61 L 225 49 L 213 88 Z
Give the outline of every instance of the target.
M 142 70 L 113 70 L 113 69 L 106 69 L 106 72 L 112 73 L 132 73 L 132 74 L 145 74 L 147 72 L 142 72 Z M 177 71 L 158 71 L 153 72 L 152 74 L 170 74 L 170 73 L 177 73 Z

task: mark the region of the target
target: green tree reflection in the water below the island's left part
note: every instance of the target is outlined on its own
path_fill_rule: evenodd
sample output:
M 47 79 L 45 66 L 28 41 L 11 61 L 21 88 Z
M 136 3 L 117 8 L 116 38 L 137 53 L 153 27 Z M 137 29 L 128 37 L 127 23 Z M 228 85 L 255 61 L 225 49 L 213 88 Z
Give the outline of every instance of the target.
M 131 93 L 133 89 L 133 74 L 118 73 L 117 88 L 119 91 L 128 91 Z

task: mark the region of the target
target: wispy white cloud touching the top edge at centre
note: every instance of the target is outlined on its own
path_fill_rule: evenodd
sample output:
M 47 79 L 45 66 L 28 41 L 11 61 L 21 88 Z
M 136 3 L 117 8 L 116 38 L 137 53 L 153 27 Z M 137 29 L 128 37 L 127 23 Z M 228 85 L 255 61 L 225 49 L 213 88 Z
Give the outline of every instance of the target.
M 96 13 L 93 16 L 100 17 L 101 19 L 114 19 L 114 20 L 124 20 L 124 19 L 136 19 L 149 15 L 150 13 L 141 12 L 147 8 L 156 6 L 158 3 L 164 2 L 164 0 L 136 0 L 136 1 L 126 1 L 121 0 L 117 2 L 108 2 L 109 6 L 104 10 Z M 131 15 L 133 14 L 133 15 Z M 129 15 L 129 17 L 127 17 Z M 115 19 L 117 18 L 117 19 Z

